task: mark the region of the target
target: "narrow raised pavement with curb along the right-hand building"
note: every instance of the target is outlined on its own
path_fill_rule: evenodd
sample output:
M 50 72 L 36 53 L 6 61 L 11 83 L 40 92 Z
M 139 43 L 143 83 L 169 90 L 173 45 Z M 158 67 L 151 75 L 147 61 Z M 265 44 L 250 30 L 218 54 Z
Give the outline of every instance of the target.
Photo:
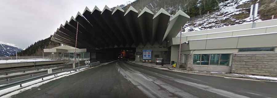
M 131 64 L 136 64 L 136 63 L 132 63 L 129 60 L 128 60 L 128 62 Z M 142 65 L 142 64 L 138 64 L 138 65 Z M 153 67 L 153 66 L 148 66 L 148 65 L 142 65 L 142 66 L 160 69 L 159 67 Z M 179 70 L 179 69 L 172 69 L 172 68 L 169 68 L 168 66 L 167 66 L 167 69 L 168 70 L 166 70 L 166 69 L 160 69 L 160 70 L 183 72 L 183 73 L 188 73 L 188 74 L 216 76 L 216 77 L 223 77 L 223 78 L 247 79 L 247 80 L 252 80 L 252 81 L 277 82 L 276 80 L 273 80 L 273 79 L 252 78 L 252 77 L 247 77 L 247 76 L 243 76 L 243 75 L 220 74 L 220 73 L 210 73 L 210 72 L 200 72 L 200 71 L 185 71 L 185 70 Z

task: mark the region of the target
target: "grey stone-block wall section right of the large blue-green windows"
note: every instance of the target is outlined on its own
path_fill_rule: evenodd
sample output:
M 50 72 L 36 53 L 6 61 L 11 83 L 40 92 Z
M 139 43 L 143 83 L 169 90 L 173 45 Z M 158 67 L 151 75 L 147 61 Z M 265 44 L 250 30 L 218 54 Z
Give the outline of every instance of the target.
M 231 72 L 277 77 L 277 53 L 234 54 Z

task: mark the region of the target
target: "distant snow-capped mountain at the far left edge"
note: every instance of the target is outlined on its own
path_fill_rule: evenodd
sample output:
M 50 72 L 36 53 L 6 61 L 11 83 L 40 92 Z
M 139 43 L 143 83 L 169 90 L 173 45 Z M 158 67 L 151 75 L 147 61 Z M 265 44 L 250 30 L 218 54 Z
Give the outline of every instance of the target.
M 0 57 L 15 55 L 16 50 L 18 52 L 22 51 L 21 48 L 19 48 L 18 46 L 14 45 L 14 44 L 0 41 Z

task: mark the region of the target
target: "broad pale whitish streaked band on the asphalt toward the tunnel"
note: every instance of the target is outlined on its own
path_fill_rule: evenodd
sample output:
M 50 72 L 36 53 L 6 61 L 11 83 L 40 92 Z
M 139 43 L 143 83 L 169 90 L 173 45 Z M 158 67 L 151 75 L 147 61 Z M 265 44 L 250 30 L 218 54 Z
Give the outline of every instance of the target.
M 126 65 L 123 65 L 123 66 L 126 67 Z M 178 96 L 181 98 L 199 98 L 181 89 L 178 89 L 169 84 L 166 84 L 158 80 L 158 78 L 145 76 L 139 71 L 134 70 L 133 68 L 128 68 L 128 70 L 134 73 L 125 71 L 120 66 L 118 66 L 117 68 L 120 68 L 118 69 L 118 71 L 120 71 L 120 73 L 123 76 L 127 76 L 127 79 L 130 82 L 132 82 L 134 85 L 139 85 L 138 88 L 150 97 L 172 98 L 172 97 L 175 97 L 176 95 L 176 97 Z

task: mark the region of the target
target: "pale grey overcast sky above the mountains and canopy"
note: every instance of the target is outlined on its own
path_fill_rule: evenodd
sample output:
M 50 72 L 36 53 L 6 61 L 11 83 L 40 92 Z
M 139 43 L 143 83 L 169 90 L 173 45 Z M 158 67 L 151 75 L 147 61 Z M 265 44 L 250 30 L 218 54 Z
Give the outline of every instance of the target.
M 77 12 L 83 13 L 105 5 L 112 8 L 134 0 L 1 0 L 0 41 L 24 49 L 34 42 L 50 37 L 54 31 Z

